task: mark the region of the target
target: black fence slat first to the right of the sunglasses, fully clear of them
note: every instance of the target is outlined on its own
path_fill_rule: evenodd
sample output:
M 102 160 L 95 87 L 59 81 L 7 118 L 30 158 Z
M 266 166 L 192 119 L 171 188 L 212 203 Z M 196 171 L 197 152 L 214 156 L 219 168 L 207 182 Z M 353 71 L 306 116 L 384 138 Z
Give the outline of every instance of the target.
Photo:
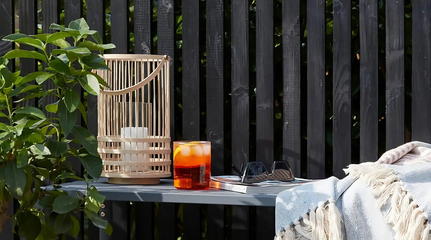
M 325 178 L 325 4 L 307 0 L 307 178 Z

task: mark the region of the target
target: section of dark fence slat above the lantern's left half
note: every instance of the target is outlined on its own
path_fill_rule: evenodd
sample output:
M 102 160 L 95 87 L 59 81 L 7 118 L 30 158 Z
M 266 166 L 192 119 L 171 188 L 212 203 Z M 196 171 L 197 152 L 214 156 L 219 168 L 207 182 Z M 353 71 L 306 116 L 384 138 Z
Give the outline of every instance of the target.
M 111 1 L 111 43 L 116 48 L 114 53 L 129 52 L 129 32 L 128 32 L 128 0 Z

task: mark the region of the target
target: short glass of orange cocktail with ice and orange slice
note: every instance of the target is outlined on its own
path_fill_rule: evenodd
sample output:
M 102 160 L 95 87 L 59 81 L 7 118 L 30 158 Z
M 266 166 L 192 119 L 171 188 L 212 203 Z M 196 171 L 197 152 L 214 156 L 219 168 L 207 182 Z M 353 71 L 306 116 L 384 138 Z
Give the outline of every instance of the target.
M 211 142 L 174 142 L 174 186 L 205 190 L 211 184 Z

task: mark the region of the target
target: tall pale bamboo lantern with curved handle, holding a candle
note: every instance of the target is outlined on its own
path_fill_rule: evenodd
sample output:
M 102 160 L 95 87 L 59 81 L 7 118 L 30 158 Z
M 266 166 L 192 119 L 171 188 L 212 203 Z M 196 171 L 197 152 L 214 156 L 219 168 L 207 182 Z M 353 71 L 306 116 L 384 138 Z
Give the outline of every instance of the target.
M 157 184 L 171 176 L 169 56 L 106 54 L 97 70 L 109 88 L 97 100 L 102 177 L 114 184 Z

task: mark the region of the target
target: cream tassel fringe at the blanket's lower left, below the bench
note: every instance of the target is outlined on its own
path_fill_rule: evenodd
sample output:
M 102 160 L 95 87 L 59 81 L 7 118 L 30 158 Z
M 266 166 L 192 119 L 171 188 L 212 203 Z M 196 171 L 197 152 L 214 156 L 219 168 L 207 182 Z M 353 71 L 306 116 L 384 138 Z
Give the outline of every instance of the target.
M 317 208 L 284 227 L 274 240 L 342 240 L 341 215 L 333 200 L 319 203 Z

